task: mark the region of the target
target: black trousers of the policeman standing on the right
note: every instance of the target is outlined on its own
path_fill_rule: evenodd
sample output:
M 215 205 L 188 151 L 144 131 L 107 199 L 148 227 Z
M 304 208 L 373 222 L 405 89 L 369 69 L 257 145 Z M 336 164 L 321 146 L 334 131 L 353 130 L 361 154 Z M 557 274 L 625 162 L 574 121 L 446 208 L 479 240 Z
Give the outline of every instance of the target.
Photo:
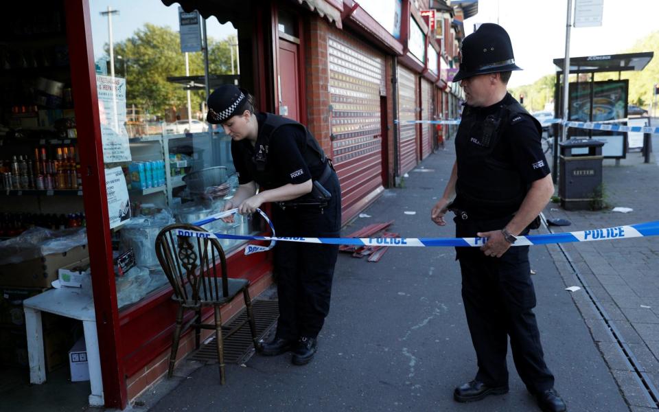
M 456 222 L 456 237 L 474 237 L 478 231 L 505 227 L 500 220 Z M 524 232 L 526 234 L 526 232 Z M 529 247 L 511 247 L 501 258 L 485 256 L 478 247 L 456 248 L 462 271 L 462 299 L 472 336 L 478 372 L 476 380 L 491 386 L 507 386 L 508 336 L 515 367 L 527 389 L 537 393 L 551 389 L 554 377 L 544 363 L 540 332 L 533 308 Z

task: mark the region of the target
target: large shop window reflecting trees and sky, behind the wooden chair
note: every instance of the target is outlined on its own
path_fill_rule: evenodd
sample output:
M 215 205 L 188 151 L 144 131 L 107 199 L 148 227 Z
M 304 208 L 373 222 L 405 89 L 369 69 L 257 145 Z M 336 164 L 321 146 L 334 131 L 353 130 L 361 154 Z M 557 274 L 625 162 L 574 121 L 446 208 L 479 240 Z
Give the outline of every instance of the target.
M 107 3 L 92 0 L 90 10 L 114 258 L 135 260 L 127 273 L 116 270 L 122 308 L 167 284 L 154 249 L 160 229 L 220 211 L 238 185 L 231 138 L 205 122 L 205 43 L 209 88 L 240 78 L 231 23 L 208 19 L 204 36 L 203 17 L 176 3 Z M 250 227 L 240 215 L 205 225 L 239 235 Z M 227 253 L 243 243 L 221 241 Z

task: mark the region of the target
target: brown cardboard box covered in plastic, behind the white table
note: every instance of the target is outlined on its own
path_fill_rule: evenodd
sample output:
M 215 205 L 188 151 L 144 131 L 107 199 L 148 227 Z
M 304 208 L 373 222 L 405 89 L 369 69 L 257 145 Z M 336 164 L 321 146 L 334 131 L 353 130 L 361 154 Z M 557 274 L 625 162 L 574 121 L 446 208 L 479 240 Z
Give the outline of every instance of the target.
M 58 269 L 89 258 L 86 244 L 64 253 L 51 253 L 19 263 L 0 265 L 0 285 L 19 288 L 50 288 L 58 279 Z

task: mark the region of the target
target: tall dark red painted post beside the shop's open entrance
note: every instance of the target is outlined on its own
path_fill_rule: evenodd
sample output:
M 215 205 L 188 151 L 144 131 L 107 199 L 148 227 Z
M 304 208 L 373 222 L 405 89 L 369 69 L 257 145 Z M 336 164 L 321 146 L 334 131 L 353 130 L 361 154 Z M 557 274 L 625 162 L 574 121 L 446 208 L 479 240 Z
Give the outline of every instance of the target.
M 127 402 L 126 381 L 117 351 L 119 313 L 112 264 L 89 1 L 65 0 L 65 10 L 105 406 L 124 409 Z

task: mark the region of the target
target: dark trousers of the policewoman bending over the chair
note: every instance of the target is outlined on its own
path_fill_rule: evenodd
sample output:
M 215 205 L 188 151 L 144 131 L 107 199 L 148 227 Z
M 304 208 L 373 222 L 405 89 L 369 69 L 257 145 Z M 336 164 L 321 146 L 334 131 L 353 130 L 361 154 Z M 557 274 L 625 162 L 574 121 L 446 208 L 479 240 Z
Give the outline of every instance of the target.
M 273 205 L 277 236 L 338 238 L 341 227 L 341 191 L 332 172 L 325 189 L 332 199 L 324 209 Z M 338 245 L 277 242 L 274 273 L 279 295 L 277 337 L 297 340 L 318 336 L 329 313 L 332 277 Z

